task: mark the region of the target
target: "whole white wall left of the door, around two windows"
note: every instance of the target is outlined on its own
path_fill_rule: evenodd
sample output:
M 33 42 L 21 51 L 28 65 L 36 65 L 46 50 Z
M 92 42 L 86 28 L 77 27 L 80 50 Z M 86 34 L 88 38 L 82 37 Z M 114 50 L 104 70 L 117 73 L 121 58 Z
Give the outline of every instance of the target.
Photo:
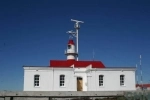
M 37 70 L 39 69 L 39 70 Z M 40 75 L 40 86 L 34 87 L 34 75 Z M 59 76 L 65 75 L 65 86 L 60 87 Z M 53 81 L 54 80 L 54 81 Z M 24 70 L 24 91 L 76 91 L 74 71 L 59 68 L 26 68 Z

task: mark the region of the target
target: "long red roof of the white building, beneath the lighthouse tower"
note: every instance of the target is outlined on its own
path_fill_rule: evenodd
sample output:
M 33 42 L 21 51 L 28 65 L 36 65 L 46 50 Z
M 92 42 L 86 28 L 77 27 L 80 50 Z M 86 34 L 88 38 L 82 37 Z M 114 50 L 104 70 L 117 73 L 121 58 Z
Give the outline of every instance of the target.
M 101 61 L 75 61 L 75 60 L 50 60 L 50 67 L 87 67 L 92 65 L 92 68 L 105 68 Z

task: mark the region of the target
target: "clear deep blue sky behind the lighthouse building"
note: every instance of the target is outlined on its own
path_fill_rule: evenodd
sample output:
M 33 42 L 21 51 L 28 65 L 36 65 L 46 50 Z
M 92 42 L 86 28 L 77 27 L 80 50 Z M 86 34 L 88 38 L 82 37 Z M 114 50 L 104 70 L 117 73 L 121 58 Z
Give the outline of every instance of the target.
M 23 89 L 23 65 L 48 66 L 65 60 L 73 29 L 82 20 L 79 60 L 106 67 L 139 67 L 150 83 L 150 2 L 148 0 L 2 0 L 0 2 L 0 90 Z

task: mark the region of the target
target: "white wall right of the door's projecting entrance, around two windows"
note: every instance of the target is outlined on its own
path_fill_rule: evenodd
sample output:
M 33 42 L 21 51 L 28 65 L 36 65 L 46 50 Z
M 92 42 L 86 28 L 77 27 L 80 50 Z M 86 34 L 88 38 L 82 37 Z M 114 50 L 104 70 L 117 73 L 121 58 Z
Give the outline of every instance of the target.
M 88 91 L 136 90 L 135 71 L 91 71 L 88 77 Z M 120 75 L 125 75 L 125 86 L 120 86 Z M 99 86 L 99 75 L 104 75 L 104 86 Z

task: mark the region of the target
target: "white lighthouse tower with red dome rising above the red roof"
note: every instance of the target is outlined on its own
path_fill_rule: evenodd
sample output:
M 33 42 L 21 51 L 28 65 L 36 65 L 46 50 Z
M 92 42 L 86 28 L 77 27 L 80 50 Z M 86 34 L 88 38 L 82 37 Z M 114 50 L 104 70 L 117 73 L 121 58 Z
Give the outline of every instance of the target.
M 67 60 L 76 60 L 76 56 L 78 55 L 76 53 L 75 44 L 72 39 L 69 39 L 67 50 L 65 50 L 65 55 L 67 56 Z

